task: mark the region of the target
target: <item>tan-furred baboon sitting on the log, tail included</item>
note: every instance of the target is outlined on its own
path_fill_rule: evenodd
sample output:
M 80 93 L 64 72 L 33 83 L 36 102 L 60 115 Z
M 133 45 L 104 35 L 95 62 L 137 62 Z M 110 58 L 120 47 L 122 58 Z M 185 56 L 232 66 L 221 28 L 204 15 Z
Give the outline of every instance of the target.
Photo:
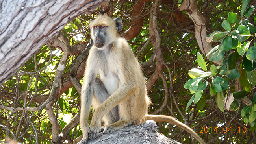
M 82 86 L 82 143 L 87 143 L 89 136 L 95 138 L 100 131 L 113 133 L 129 125 L 154 120 L 175 124 L 205 144 L 195 131 L 173 117 L 147 114 L 151 100 L 141 66 L 128 42 L 117 34 L 123 27 L 121 19 L 100 15 L 89 26 L 94 45 L 89 52 Z M 89 127 L 91 105 L 95 112 Z

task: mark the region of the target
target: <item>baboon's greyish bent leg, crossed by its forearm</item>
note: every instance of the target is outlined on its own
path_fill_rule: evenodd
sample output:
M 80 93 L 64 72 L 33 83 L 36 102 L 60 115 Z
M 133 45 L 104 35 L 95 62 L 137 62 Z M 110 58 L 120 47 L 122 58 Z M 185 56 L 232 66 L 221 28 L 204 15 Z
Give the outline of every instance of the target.
M 95 82 L 93 83 L 93 108 L 97 109 L 105 100 L 107 100 L 107 98 L 109 98 L 109 94 L 105 86 L 100 78 L 96 77 Z M 118 111 L 119 109 L 117 105 L 103 116 L 102 120 L 105 125 L 113 124 L 119 120 Z

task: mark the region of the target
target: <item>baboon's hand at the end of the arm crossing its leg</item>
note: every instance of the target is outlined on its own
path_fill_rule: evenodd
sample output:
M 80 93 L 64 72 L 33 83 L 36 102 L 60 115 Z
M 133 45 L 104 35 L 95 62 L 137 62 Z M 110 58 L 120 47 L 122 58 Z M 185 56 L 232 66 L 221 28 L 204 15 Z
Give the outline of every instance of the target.
M 90 131 L 88 132 L 91 139 L 96 138 L 96 136 L 100 132 L 101 118 L 96 118 L 96 115 L 97 114 L 93 114 L 93 118 L 90 124 Z

